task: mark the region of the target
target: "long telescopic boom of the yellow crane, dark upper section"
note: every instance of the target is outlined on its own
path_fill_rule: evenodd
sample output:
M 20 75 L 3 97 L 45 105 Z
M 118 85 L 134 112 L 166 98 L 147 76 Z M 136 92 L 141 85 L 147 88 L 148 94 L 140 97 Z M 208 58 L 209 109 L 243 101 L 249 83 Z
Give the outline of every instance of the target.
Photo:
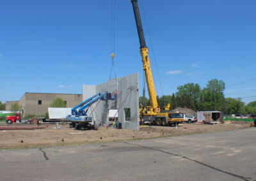
M 145 73 L 145 78 L 147 81 L 147 88 L 148 88 L 148 96 L 150 100 L 150 107 L 152 108 L 153 114 L 157 112 L 158 104 L 157 104 L 157 98 L 156 98 L 156 91 L 154 87 L 154 81 L 153 81 L 153 76 L 152 76 L 152 71 L 151 71 L 151 66 L 150 62 L 148 59 L 148 48 L 146 46 L 144 34 L 143 34 L 143 28 L 141 24 L 141 18 L 140 18 L 140 11 L 138 8 L 138 0 L 132 0 L 132 7 L 134 11 L 134 17 L 136 20 L 136 26 L 138 30 L 138 36 L 140 40 L 140 54 L 143 62 L 143 71 Z

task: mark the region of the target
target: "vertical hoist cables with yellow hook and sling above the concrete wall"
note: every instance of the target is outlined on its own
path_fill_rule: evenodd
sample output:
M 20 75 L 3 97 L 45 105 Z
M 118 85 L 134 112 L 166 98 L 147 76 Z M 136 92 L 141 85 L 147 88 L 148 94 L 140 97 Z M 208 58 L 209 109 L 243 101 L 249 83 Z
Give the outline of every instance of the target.
M 113 70 L 115 78 L 116 78 L 114 58 L 115 58 L 115 0 L 112 0 L 112 4 L 111 4 L 111 59 L 112 59 L 112 66 L 111 66 L 109 80 L 111 79 L 112 70 Z

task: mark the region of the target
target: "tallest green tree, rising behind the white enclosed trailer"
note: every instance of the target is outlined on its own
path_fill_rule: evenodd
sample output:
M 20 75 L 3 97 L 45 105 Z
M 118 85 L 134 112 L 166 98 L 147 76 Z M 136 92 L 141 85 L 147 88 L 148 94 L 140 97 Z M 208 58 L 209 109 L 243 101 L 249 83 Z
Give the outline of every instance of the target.
M 202 90 L 202 110 L 224 110 L 225 98 L 223 91 L 225 90 L 225 83 L 223 80 L 216 78 L 208 81 L 206 87 Z

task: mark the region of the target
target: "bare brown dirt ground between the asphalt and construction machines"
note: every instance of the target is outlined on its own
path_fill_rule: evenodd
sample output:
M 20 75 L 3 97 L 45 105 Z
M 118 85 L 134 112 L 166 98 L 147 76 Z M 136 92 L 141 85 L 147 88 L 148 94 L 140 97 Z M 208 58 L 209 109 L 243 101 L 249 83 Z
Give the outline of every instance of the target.
M 3 127 L 6 126 L 6 124 L 1 123 L 0 126 Z M 29 125 L 13 124 L 12 127 L 14 126 Z M 59 125 L 61 127 L 60 129 L 54 128 L 56 127 L 56 124 L 42 124 L 41 126 L 45 127 L 45 129 L 0 131 L 0 148 L 47 147 L 54 145 L 132 140 L 160 136 L 227 131 L 250 127 L 250 122 L 231 122 L 229 124 L 214 125 L 180 124 L 178 127 L 141 126 L 140 131 L 114 129 L 112 127 L 109 127 L 108 129 L 106 127 L 99 127 L 97 131 L 77 131 L 74 128 L 69 128 L 68 124 Z

